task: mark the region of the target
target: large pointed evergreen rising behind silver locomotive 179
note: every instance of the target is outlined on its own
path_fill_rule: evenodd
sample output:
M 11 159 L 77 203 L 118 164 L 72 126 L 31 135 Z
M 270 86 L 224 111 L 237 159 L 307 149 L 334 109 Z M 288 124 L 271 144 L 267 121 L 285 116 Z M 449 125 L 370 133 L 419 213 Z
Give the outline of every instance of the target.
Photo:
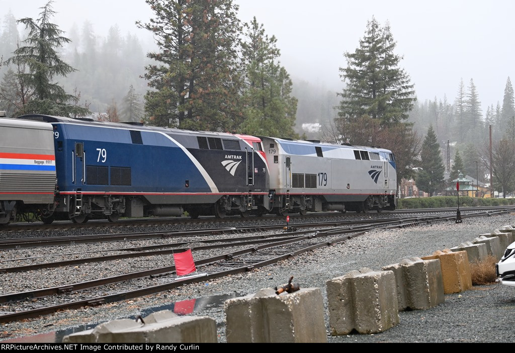
M 341 94 L 338 115 L 356 119 L 369 115 L 388 126 L 408 118 L 415 101 L 414 85 L 399 67 L 402 59 L 393 51 L 396 42 L 390 26 L 372 17 L 364 37 L 354 53 L 346 52 L 347 67 L 340 67 L 340 78 L 346 83 Z

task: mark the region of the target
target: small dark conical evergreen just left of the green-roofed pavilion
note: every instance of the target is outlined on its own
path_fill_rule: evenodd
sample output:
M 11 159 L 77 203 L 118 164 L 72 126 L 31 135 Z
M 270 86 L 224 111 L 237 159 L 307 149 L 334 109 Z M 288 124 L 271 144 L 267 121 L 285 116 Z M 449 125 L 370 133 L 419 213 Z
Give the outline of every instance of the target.
M 433 196 L 435 192 L 441 190 L 443 187 L 443 166 L 442 157 L 440 154 L 440 145 L 436 139 L 433 126 L 427 130 L 427 135 L 422 143 L 421 157 L 421 170 L 417 172 L 415 182 L 417 187 Z

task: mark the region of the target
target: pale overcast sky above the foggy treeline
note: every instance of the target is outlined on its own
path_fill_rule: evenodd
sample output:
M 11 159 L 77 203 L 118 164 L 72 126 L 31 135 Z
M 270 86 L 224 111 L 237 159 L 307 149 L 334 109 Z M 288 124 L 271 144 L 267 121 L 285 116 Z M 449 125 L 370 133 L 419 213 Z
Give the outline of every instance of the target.
M 15 18 L 37 17 L 45 0 L 0 0 L 2 13 Z M 470 79 L 484 107 L 500 101 L 508 76 L 515 80 L 515 47 L 511 0 L 235 0 L 238 17 L 249 22 L 255 15 L 268 34 L 276 35 L 281 62 L 292 77 L 303 78 L 322 88 L 340 91 L 339 67 L 346 66 L 344 52 L 353 52 L 363 37 L 367 21 L 375 16 L 390 23 L 403 55 L 401 67 L 415 84 L 419 100 L 453 102 L 460 79 Z M 56 0 L 55 23 L 68 31 L 84 20 L 105 36 L 117 24 L 123 34 L 148 36 L 135 21 L 152 16 L 144 0 Z M 3 16 L 0 17 L 0 21 Z

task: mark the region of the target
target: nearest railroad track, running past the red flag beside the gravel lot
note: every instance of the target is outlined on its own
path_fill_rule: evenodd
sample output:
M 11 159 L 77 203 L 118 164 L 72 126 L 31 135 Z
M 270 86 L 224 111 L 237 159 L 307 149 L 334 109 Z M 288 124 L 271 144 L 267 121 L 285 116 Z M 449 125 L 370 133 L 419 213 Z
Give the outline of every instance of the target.
M 508 209 L 489 212 L 476 212 L 470 214 L 463 214 L 462 218 L 474 216 L 487 216 L 511 211 L 511 209 Z M 353 226 L 333 225 L 331 228 L 326 227 L 325 229 L 319 230 L 312 229 L 306 231 L 289 232 L 286 234 L 283 232 L 279 234 L 274 234 L 273 236 L 269 236 L 267 239 L 263 237 L 259 239 L 247 238 L 243 240 L 240 237 L 235 238 L 234 241 L 227 241 L 227 239 L 224 239 L 227 241 L 227 244 L 225 245 L 217 244 L 203 246 L 204 250 L 214 248 L 227 250 L 229 246 L 233 248 L 233 250 L 219 255 L 205 257 L 196 261 L 195 265 L 202 271 L 202 273 L 204 273 L 201 276 L 197 275 L 189 277 L 177 277 L 174 275 L 175 267 L 171 265 L 159 268 L 152 268 L 150 270 L 125 273 L 122 275 L 111 276 L 107 278 L 98 278 L 94 281 L 73 283 L 53 288 L 45 288 L 40 290 L 6 294 L 0 296 L 0 303 L 6 303 L 9 305 L 3 305 L 2 310 L 4 312 L 13 312 L 8 312 L 4 315 L 0 315 L 0 322 L 7 323 L 12 321 L 19 321 L 22 319 L 35 318 L 39 315 L 56 312 L 58 310 L 77 309 L 84 306 L 96 306 L 106 303 L 123 301 L 147 294 L 166 291 L 188 283 L 208 281 L 216 277 L 242 273 L 250 271 L 254 268 L 259 268 L 276 263 L 283 259 L 287 259 L 291 256 L 296 256 L 307 251 L 341 243 L 342 241 L 349 240 L 355 236 L 361 235 L 372 229 L 403 228 L 419 225 L 421 223 L 425 224 L 427 222 L 432 221 L 452 221 L 454 219 L 454 215 L 447 215 L 416 218 L 408 217 L 403 220 L 382 220 L 381 222 L 370 222 L 369 220 L 368 224 L 360 224 Z M 212 240 L 220 241 L 220 239 Z M 161 251 L 169 252 L 170 250 L 171 249 Z M 107 260 L 105 259 L 105 261 Z M 63 266 L 70 265 L 72 264 L 63 264 Z M 139 287 L 137 289 L 127 289 L 122 292 L 118 292 L 118 286 L 116 284 L 126 283 L 142 278 L 148 278 L 149 281 L 147 281 L 146 284 L 138 282 L 138 284 L 135 284 L 136 287 Z M 152 284 L 152 282 L 155 283 L 156 280 L 158 280 L 158 282 L 164 283 Z M 112 288 L 106 289 L 107 287 L 109 287 L 109 285 L 111 285 Z M 100 290 L 91 290 L 94 288 L 100 288 Z M 85 290 L 91 291 L 85 292 Z M 99 292 L 106 291 L 114 291 L 114 293 L 98 295 Z M 84 296 L 87 298 L 83 298 Z M 78 300 L 78 297 L 81 299 Z M 48 299 L 46 301 L 50 304 L 43 303 L 44 300 L 35 301 L 35 299 L 40 298 Z M 27 302 L 27 299 L 29 299 L 29 303 L 34 303 L 32 309 L 26 309 L 28 306 L 26 303 L 24 305 L 19 304 L 19 302 L 23 300 Z M 59 303 L 56 304 L 57 302 Z M 24 307 L 24 309 L 19 310 L 16 309 L 17 307 Z

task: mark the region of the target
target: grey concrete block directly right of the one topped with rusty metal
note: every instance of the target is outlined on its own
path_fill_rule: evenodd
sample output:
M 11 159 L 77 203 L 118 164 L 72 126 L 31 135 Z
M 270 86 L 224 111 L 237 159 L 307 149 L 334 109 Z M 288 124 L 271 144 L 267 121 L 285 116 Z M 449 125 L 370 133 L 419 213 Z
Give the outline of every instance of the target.
M 332 335 L 377 333 L 399 323 L 393 271 L 363 268 L 327 281 Z

